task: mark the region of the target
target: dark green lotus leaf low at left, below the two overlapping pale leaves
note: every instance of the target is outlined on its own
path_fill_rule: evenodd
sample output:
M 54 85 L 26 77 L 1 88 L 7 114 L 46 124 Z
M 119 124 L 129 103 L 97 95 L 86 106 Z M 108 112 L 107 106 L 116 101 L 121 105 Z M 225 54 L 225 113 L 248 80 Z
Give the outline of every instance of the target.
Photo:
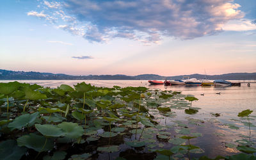
M 27 148 L 36 150 L 37 152 L 52 150 L 53 148 L 53 141 L 51 139 L 46 140 L 44 136 L 39 136 L 35 133 L 21 136 L 17 139 L 17 143 L 20 147 L 25 146 Z

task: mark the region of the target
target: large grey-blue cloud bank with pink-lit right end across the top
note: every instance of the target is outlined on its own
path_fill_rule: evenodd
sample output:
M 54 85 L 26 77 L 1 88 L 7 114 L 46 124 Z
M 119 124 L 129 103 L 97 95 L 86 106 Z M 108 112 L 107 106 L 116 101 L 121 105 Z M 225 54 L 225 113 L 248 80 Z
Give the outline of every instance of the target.
M 40 6 L 49 15 L 45 18 L 55 18 L 58 28 L 83 36 L 90 42 L 127 38 L 147 44 L 159 43 L 163 37 L 186 40 L 219 33 L 230 20 L 244 17 L 240 5 L 232 2 L 66 0 L 62 3 L 44 1 Z M 44 12 L 40 13 L 44 15 Z

